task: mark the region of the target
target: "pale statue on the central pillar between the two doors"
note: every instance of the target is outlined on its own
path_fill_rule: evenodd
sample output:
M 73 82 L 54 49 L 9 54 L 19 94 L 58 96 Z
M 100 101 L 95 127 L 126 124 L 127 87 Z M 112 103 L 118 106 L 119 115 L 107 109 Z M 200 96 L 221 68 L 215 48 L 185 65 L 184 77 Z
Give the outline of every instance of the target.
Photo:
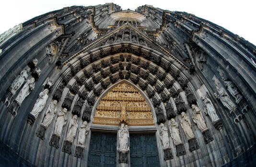
M 128 151 L 128 141 L 129 141 L 129 131 L 128 126 L 121 124 L 118 130 L 118 141 L 119 141 L 119 148 L 120 151 Z

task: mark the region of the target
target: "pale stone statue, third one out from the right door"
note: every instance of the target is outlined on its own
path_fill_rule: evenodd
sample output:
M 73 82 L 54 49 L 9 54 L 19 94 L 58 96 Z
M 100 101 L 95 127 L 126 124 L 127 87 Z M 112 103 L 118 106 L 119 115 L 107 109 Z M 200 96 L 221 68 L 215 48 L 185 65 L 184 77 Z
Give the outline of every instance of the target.
M 189 140 L 189 139 L 195 137 L 193 134 L 193 131 L 192 131 L 192 125 L 191 125 L 188 117 L 186 116 L 186 113 L 182 112 L 181 115 L 182 115 L 182 119 L 180 120 L 180 125 L 181 125 L 187 139 Z

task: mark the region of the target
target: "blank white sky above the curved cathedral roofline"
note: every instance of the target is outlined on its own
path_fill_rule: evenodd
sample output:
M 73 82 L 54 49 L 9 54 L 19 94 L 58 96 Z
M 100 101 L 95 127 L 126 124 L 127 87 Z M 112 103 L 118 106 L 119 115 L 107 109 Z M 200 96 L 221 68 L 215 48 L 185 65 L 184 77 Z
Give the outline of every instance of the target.
M 63 7 L 113 2 L 123 10 L 141 5 L 186 11 L 216 23 L 256 45 L 256 0 L 0 0 L 0 33 L 35 16 Z

